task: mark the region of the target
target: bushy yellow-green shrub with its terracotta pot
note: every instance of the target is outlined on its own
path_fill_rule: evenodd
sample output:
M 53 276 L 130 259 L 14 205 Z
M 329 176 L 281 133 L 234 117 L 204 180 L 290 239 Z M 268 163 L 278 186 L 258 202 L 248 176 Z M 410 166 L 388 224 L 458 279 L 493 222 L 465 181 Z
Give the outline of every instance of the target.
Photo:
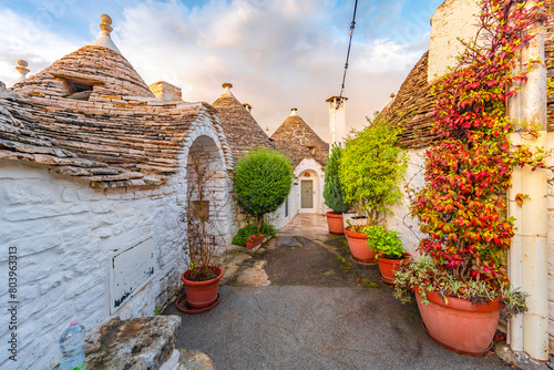
M 339 160 L 345 202 L 362 217 L 345 229 L 352 258 L 359 263 L 375 261 L 376 253 L 369 249 L 363 233 L 392 214 L 390 206 L 402 197 L 399 184 L 407 168 L 406 151 L 397 145 L 401 129 L 379 115 L 368 122 L 346 138 Z

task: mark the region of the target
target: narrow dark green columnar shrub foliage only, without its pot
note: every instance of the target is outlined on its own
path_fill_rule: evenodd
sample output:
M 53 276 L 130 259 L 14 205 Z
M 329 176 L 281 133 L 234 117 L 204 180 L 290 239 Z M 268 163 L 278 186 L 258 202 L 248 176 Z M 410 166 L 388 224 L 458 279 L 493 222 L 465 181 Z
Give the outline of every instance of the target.
M 325 204 L 332 212 L 341 214 L 350 209 L 348 203 L 345 202 L 342 185 L 340 184 L 339 169 L 340 157 L 342 155 L 342 146 L 332 144 L 331 151 L 327 156 L 327 167 L 325 167 L 325 186 L 324 198 Z

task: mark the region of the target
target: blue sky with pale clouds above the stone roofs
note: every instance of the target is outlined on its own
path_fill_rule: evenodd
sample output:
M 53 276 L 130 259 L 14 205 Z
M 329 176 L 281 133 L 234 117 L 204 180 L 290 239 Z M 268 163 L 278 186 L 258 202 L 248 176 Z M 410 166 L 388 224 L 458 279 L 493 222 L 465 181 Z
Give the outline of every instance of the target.
M 343 96 L 348 130 L 390 102 L 429 49 L 430 18 L 443 0 L 359 0 Z M 147 84 L 167 81 L 187 102 L 214 102 L 222 83 L 253 106 L 271 134 L 291 107 L 329 141 L 355 0 L 0 0 L 0 81 L 34 74 L 102 34 Z

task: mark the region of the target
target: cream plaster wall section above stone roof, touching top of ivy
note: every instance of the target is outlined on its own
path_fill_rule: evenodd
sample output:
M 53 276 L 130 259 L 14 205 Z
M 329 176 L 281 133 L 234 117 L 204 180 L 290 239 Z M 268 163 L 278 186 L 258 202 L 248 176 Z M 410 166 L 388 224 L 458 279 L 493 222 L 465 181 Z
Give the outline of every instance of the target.
M 468 41 L 475 37 L 478 19 L 473 16 L 479 10 L 478 0 L 447 0 L 431 17 L 428 69 L 430 83 L 456 64 L 455 56 L 464 49 L 458 38 Z

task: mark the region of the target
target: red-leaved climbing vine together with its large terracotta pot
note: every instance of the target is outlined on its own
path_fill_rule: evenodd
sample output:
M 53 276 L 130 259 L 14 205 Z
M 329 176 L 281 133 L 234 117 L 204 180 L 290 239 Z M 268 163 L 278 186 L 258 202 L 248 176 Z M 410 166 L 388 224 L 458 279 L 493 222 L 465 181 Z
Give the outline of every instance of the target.
M 525 81 L 526 71 L 514 71 L 542 4 L 507 9 L 504 1 L 484 0 L 481 6 L 483 33 L 435 85 L 438 140 L 425 152 L 424 186 L 411 195 L 411 214 L 427 234 L 419 251 L 428 258 L 402 265 L 396 285 L 402 300 L 414 290 L 437 342 L 468 354 L 489 350 L 502 307 L 509 315 L 525 310 L 525 294 L 509 288 L 503 266 L 514 235 L 505 196 L 512 171 L 525 164 L 552 171 L 544 162 L 548 152 L 511 145 L 505 115 L 505 102 L 517 93 L 510 86 Z M 513 202 L 521 205 L 523 197 Z

